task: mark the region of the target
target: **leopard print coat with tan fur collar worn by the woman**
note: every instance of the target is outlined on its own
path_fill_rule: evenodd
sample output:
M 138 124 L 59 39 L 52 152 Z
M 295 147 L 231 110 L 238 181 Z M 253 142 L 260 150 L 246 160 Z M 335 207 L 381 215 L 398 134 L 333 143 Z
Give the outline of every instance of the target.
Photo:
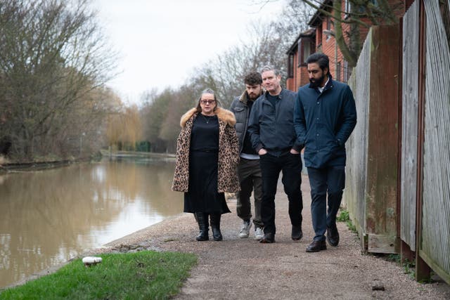
M 219 161 L 217 174 L 218 193 L 236 193 L 240 190 L 237 167 L 239 163 L 239 142 L 234 125 L 233 112 L 221 107 L 214 111 L 219 119 Z M 195 108 L 188 110 L 180 121 L 181 132 L 176 141 L 176 162 L 172 190 L 188 192 L 189 186 L 189 148 L 193 120 L 198 112 Z

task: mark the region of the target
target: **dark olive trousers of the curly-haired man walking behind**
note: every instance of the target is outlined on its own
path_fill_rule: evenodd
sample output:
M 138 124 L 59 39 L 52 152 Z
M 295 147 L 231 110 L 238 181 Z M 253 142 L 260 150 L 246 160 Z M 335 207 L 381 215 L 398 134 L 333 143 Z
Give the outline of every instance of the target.
M 264 226 L 261 220 L 262 177 L 259 159 L 241 158 L 238 165 L 238 177 L 240 183 L 240 191 L 236 193 L 238 217 L 243 220 L 252 219 L 250 196 L 253 192 L 253 198 L 255 199 L 253 223 L 255 228 L 262 228 Z

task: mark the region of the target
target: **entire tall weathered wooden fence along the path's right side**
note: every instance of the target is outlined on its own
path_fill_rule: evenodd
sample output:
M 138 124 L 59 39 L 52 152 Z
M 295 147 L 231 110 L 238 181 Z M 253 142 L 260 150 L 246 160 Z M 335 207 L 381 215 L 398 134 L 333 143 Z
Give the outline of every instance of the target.
M 364 250 L 408 253 L 418 280 L 426 266 L 450 284 L 449 7 L 416 0 L 401 31 L 369 32 L 349 79 L 358 124 L 344 203 Z

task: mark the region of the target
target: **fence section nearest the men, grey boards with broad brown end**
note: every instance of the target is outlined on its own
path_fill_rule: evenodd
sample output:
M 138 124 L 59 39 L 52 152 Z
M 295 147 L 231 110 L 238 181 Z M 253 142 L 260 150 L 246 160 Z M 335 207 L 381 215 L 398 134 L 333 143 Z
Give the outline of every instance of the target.
M 399 27 L 372 27 L 349 81 L 359 122 L 348 144 L 345 203 L 368 252 L 398 252 L 399 56 L 392 53 L 399 53 Z

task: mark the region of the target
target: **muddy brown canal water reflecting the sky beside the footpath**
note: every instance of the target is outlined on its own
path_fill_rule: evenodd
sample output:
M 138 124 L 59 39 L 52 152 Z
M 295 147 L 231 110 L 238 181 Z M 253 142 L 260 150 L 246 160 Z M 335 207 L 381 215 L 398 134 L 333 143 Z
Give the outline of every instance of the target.
M 180 214 L 173 171 L 122 159 L 0 175 L 0 287 Z

